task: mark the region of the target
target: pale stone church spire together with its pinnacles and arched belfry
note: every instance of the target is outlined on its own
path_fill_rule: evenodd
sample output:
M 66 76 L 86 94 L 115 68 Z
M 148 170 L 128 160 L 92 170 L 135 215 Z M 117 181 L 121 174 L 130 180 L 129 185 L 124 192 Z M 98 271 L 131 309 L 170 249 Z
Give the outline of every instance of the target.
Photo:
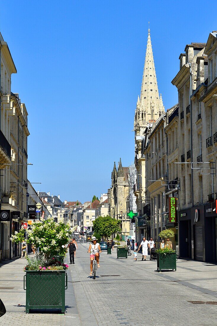
M 152 124 L 165 112 L 162 96 L 159 96 L 157 78 L 154 67 L 150 29 L 146 48 L 140 98 L 137 99 L 137 108 L 134 118 L 135 137 L 144 137 L 146 127 Z

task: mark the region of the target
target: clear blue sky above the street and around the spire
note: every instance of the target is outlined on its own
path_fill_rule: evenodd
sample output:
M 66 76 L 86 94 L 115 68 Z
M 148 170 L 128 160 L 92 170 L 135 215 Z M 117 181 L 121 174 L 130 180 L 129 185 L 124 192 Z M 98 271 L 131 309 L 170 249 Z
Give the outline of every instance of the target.
M 193 5 L 11 0 L 1 6 L 1 33 L 18 71 L 11 90 L 29 113 L 28 179 L 41 182 L 36 190 L 91 200 L 108 191 L 114 161 L 134 161 L 131 130 L 148 22 L 158 89 L 168 109 L 178 102 L 171 80 L 180 53 L 217 29 L 209 1 Z

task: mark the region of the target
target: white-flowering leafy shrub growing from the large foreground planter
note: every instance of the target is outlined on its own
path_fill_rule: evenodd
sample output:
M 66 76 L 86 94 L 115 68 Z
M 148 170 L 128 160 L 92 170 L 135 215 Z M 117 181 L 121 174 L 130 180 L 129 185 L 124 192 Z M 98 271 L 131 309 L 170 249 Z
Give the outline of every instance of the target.
M 64 223 L 64 220 L 60 220 L 58 223 L 54 222 L 52 217 L 48 219 L 41 219 L 38 222 L 32 224 L 31 228 L 26 230 L 28 234 L 27 244 L 31 243 L 36 248 L 39 248 L 39 252 L 44 255 L 46 259 L 50 259 L 52 256 L 65 257 L 67 248 L 65 244 L 68 242 L 69 235 L 71 235 L 70 222 Z M 17 244 L 24 239 L 24 229 L 20 232 L 15 232 L 11 236 L 11 241 Z

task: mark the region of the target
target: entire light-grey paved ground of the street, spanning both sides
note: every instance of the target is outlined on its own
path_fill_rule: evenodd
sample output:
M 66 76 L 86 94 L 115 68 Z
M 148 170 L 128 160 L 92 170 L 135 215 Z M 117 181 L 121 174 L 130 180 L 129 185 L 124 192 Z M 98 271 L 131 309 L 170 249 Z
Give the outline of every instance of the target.
M 2 265 L 1 299 L 7 313 L 0 325 L 217 325 L 217 305 L 188 302 L 217 301 L 216 265 L 180 259 L 176 272 L 158 273 L 156 261 L 141 261 L 140 254 L 137 262 L 132 256 L 116 259 L 115 250 L 100 255 L 93 280 L 87 250 L 88 244 L 79 244 L 75 265 L 70 265 L 65 316 L 25 314 L 25 260 Z

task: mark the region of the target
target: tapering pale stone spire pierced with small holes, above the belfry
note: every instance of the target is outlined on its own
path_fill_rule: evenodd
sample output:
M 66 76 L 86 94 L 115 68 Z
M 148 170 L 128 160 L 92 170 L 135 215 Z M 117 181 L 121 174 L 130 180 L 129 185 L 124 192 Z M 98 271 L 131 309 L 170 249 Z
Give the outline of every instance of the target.
M 143 107 L 147 113 L 150 113 L 149 118 L 151 120 L 155 120 L 156 117 L 154 117 L 154 113 L 157 113 L 159 104 L 160 104 L 160 99 L 159 99 L 157 78 L 156 78 L 155 67 L 154 67 L 150 29 L 148 29 L 148 42 L 147 42 L 145 64 L 144 64 L 143 78 L 142 78 L 140 108 L 142 110 Z

